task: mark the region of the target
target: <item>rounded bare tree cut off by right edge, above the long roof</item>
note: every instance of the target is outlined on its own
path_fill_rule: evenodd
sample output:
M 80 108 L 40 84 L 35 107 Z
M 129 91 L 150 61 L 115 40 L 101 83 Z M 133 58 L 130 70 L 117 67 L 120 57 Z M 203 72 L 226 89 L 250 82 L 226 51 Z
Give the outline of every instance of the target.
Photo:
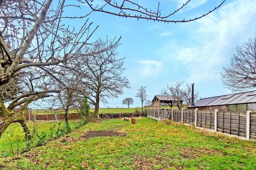
M 222 83 L 233 91 L 256 87 L 256 37 L 249 38 L 242 46 L 237 46 L 231 54 L 230 64 L 223 67 Z

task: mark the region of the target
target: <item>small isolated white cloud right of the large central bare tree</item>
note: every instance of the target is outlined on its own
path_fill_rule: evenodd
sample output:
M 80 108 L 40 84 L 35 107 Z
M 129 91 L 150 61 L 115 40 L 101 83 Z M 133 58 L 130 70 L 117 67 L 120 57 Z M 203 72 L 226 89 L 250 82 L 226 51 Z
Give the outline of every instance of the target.
M 154 60 L 141 60 L 139 74 L 142 78 L 155 77 L 163 70 L 163 63 Z

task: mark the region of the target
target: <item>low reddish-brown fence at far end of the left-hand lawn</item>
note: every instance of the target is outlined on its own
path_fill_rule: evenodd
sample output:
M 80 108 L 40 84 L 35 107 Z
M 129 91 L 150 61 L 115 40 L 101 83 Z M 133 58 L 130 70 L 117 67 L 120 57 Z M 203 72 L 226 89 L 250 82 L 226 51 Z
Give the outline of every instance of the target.
M 78 120 L 82 118 L 81 114 L 70 113 L 67 115 L 68 120 Z M 47 115 L 35 115 L 27 114 L 26 121 L 62 121 L 65 120 L 65 114 L 47 114 Z

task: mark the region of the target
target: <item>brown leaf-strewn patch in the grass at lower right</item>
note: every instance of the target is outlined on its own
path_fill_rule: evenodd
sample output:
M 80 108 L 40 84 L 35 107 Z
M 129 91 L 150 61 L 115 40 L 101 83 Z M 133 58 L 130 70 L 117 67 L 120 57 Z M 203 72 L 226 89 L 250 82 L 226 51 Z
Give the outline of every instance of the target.
M 206 148 L 182 148 L 179 150 L 180 155 L 184 158 L 195 159 L 207 155 L 224 155 L 220 150 Z

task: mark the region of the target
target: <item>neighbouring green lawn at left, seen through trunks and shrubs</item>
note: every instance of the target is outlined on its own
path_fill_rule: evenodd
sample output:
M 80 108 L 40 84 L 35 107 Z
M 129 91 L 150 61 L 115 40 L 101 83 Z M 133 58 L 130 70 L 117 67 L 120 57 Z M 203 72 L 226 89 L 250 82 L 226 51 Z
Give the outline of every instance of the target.
M 27 122 L 27 126 L 30 131 L 33 130 L 34 123 L 36 122 Z M 58 128 L 58 124 L 60 122 L 37 122 L 38 123 L 38 134 L 41 134 L 43 131 L 45 131 L 47 134 L 50 133 L 50 128 L 53 127 L 54 124 L 56 124 L 55 129 Z M 69 121 L 71 129 L 74 129 L 75 122 L 74 121 Z M 64 125 L 64 122 L 61 122 L 61 126 Z M 10 150 L 10 142 L 7 139 L 7 134 L 13 134 L 14 130 L 20 128 L 21 126 L 19 123 L 12 123 L 4 132 L 2 135 L 2 138 L 0 139 L 0 157 L 2 156 L 10 156 L 11 155 L 11 150 Z M 14 142 L 15 146 L 14 148 L 16 149 L 16 142 Z M 21 147 L 25 145 L 25 142 L 21 141 Z M 1 169 L 1 168 L 0 168 Z

